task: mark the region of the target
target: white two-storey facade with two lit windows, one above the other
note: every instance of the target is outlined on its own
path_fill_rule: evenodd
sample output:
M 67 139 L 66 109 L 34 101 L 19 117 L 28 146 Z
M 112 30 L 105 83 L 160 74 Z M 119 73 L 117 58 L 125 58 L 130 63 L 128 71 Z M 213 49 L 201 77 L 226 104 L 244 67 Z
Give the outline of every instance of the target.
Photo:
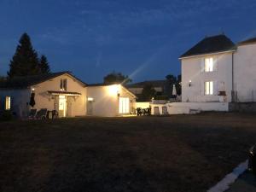
M 204 71 L 204 59 L 212 56 L 216 68 L 213 72 Z M 232 53 L 202 55 L 183 58 L 182 62 L 182 102 L 219 102 L 218 90 L 224 83 L 226 102 L 231 102 Z M 189 87 L 189 81 L 191 86 Z M 213 95 L 205 96 L 204 82 L 213 81 Z

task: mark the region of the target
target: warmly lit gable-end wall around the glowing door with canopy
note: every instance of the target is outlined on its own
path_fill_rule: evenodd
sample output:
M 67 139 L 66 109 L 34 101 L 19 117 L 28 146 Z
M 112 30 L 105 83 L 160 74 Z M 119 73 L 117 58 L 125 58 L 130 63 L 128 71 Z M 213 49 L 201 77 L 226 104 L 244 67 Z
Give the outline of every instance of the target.
M 86 89 L 84 86 L 73 79 L 71 76 L 64 74 L 55 79 L 50 79 L 41 84 L 32 86 L 35 92 L 35 102 L 34 108 L 38 110 L 41 108 L 47 108 L 48 110 L 58 110 L 58 96 L 51 96 L 48 90 L 60 91 L 60 81 L 61 79 L 67 79 L 67 91 L 79 92 L 81 96 L 68 96 L 67 99 L 67 116 L 82 116 L 86 114 Z

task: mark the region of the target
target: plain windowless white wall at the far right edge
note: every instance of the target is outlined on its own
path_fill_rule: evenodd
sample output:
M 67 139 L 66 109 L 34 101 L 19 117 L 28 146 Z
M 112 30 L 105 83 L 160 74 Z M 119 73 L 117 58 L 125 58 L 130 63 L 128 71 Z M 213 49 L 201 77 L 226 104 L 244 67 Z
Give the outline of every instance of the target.
M 237 102 L 256 102 L 256 44 L 238 46 L 234 55 Z

